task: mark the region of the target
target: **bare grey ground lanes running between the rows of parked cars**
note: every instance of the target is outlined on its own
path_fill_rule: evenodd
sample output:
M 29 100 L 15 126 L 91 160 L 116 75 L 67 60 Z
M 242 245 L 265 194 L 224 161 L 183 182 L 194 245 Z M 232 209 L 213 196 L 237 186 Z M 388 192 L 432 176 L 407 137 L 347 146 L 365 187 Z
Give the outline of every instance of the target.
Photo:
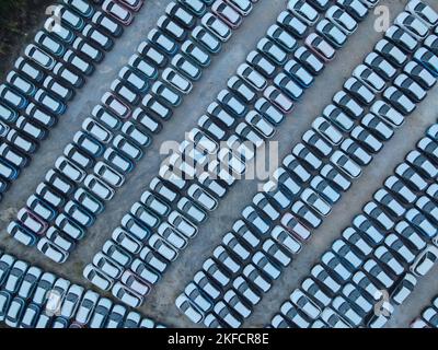
M 201 80 L 195 84 L 183 104 L 175 109 L 172 119 L 165 122 L 163 131 L 154 137 L 152 145 L 147 149 L 146 156 L 138 163 L 127 184 L 116 192 L 114 199 L 106 206 L 105 212 L 99 215 L 96 223 L 89 230 L 85 238 L 80 242 L 68 261 L 56 265 L 36 249 L 18 244 L 7 234 L 5 228 L 10 220 L 15 218 L 16 211 L 25 205 L 27 197 L 42 182 L 57 156 L 62 153 L 66 144 L 80 129 L 82 121 L 108 89 L 118 70 L 126 65 L 138 44 L 145 39 L 145 35 L 155 26 L 157 19 L 164 12 L 169 2 L 169 0 L 146 1 L 140 12 L 136 14 L 135 22 L 126 28 L 123 38 L 118 39 L 114 49 L 106 54 L 93 78 L 69 104 L 67 113 L 61 116 L 48 140 L 43 142 L 35 160 L 7 192 L 0 203 L 1 249 L 76 283 L 92 288 L 92 284 L 82 277 L 82 270 L 101 249 L 103 243 L 110 238 L 112 231 L 119 224 L 122 217 L 129 211 L 130 206 L 139 200 L 140 194 L 150 180 L 157 176 L 160 163 L 165 156 L 165 154 L 160 154 L 162 143 L 169 140 L 180 142 L 184 139 L 184 133 L 196 125 L 199 116 L 205 113 L 218 92 L 226 86 L 229 77 L 234 73 L 247 52 L 255 47 L 268 26 L 275 22 L 286 3 L 285 0 L 260 0 L 254 5 L 251 15 L 244 20 L 238 31 L 233 32 L 233 36 L 223 46 L 222 51 L 204 71 Z M 434 1 L 426 2 L 438 11 Z M 404 0 L 380 1 L 380 5 L 390 9 L 391 22 L 403 10 L 405 3 Z M 362 61 L 364 57 L 372 50 L 376 42 L 381 38 L 382 34 L 374 31 L 374 21 L 376 15 L 371 13 L 360 24 L 357 33 L 337 52 L 336 59 L 316 79 L 304 97 L 297 103 L 293 113 L 278 128 L 273 141 L 278 141 L 279 160 L 290 152 L 313 119 L 321 115 L 333 94 L 342 88 L 351 70 Z M 244 326 L 262 327 L 270 322 L 281 302 L 309 275 L 310 268 L 320 259 L 320 256 L 361 211 L 364 203 L 370 199 L 370 195 L 382 186 L 383 180 L 393 173 L 394 166 L 403 161 L 405 154 L 424 136 L 426 128 L 437 121 L 437 101 L 438 88 L 435 86 L 428 92 L 427 100 L 407 118 L 403 128 L 385 144 L 383 151 L 374 156 L 374 161 L 365 168 L 362 176 L 334 207 L 331 217 L 314 232 L 311 242 L 295 258 L 292 265 L 285 269 L 280 279 L 254 308 L 253 315 Z M 199 226 L 197 237 L 182 252 L 180 258 L 170 266 L 162 281 L 147 296 L 145 304 L 139 308 L 143 315 L 169 326 L 194 327 L 194 324 L 175 307 L 175 298 L 200 268 L 203 261 L 211 256 L 212 249 L 221 242 L 223 234 L 231 230 L 232 223 L 239 219 L 239 213 L 252 200 L 258 190 L 258 184 L 263 182 L 264 179 L 242 179 L 232 187 L 219 208 L 209 215 L 206 223 Z M 435 267 L 426 278 L 419 280 L 413 295 L 402 307 L 396 308 L 392 320 L 387 326 L 407 327 L 419 311 L 437 294 L 437 278 L 438 268 Z

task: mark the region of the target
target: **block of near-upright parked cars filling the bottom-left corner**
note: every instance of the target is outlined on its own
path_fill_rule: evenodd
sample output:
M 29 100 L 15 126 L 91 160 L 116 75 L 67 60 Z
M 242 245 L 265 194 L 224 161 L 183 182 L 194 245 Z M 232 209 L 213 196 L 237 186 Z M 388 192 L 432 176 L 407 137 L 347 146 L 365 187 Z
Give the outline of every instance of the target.
M 3 252 L 0 252 L 0 322 L 14 328 L 164 327 Z

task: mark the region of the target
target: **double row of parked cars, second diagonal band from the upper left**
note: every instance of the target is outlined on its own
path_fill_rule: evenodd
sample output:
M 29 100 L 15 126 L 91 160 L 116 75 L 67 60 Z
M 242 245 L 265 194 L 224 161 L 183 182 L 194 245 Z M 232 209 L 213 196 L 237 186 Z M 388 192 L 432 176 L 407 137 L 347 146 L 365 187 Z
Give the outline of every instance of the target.
M 244 4 L 245 11 L 239 8 Z M 210 7 L 212 12 L 208 12 Z M 8 232 L 15 240 L 37 245 L 56 262 L 67 260 L 104 210 L 105 201 L 125 184 L 152 135 L 161 130 L 201 69 L 210 63 L 217 49 L 209 43 L 224 40 L 214 31 L 218 25 L 230 30 L 219 20 L 219 9 L 242 18 L 250 13 L 252 3 L 178 0 L 166 7 L 158 27 L 122 68 L 111 90 L 83 121 L 82 130 L 9 225 Z

